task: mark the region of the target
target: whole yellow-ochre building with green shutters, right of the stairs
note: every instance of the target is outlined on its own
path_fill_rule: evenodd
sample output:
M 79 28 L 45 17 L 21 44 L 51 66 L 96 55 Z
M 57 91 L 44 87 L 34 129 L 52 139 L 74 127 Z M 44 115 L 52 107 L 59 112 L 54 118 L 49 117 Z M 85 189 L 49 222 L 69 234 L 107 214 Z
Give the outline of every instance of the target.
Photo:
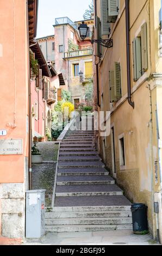
M 96 134 L 98 149 L 126 196 L 148 206 L 149 230 L 162 242 L 161 1 L 94 2 L 94 38 L 113 40 L 94 47 L 96 109 L 104 121 L 111 112 L 109 136 Z

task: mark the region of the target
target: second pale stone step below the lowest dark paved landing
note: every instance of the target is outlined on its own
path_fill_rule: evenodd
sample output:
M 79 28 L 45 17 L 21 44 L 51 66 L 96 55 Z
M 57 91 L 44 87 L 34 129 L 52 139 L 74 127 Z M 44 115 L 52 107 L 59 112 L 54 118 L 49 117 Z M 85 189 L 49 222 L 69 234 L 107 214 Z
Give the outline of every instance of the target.
M 132 217 L 129 211 L 54 211 L 45 212 L 45 218 L 107 218 Z

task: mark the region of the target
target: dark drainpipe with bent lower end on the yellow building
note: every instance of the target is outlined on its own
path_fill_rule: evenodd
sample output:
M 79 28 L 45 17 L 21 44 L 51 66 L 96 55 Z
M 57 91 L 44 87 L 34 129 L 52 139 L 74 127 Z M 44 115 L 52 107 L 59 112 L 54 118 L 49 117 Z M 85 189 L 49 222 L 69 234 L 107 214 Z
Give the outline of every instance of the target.
M 134 102 L 131 96 L 130 83 L 130 38 L 129 38 L 129 0 L 126 0 L 126 40 L 127 40 L 127 86 L 128 86 L 128 103 L 134 108 Z

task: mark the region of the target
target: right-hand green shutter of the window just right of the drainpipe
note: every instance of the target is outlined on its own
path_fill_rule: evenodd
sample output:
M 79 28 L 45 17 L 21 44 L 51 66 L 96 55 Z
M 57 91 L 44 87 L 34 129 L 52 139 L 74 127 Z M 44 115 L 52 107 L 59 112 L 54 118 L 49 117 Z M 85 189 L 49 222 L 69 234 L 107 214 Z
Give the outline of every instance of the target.
M 147 23 L 141 27 L 141 53 L 142 53 L 142 70 L 148 69 L 148 51 L 147 51 Z

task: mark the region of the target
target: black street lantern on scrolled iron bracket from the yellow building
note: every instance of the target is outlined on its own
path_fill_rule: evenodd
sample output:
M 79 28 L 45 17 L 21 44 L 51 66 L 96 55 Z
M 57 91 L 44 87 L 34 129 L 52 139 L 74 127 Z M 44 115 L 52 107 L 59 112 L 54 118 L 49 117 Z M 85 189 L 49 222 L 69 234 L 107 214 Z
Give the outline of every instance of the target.
M 82 21 L 82 24 L 78 27 L 79 35 L 82 40 L 86 38 L 89 27 Z M 93 39 L 91 40 L 91 44 L 99 44 L 107 48 L 113 47 L 113 39 Z

